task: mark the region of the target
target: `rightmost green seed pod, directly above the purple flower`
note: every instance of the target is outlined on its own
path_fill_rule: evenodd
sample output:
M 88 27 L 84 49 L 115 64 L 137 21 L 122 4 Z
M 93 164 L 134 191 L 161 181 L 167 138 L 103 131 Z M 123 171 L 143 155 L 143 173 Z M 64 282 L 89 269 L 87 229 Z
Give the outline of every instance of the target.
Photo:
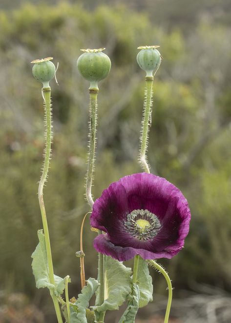
M 153 71 L 154 75 L 158 70 L 162 56 L 160 52 L 156 49 L 160 46 L 140 46 L 138 49 L 141 51 L 137 54 L 137 62 L 139 66 L 146 71 L 147 78 L 153 78 Z

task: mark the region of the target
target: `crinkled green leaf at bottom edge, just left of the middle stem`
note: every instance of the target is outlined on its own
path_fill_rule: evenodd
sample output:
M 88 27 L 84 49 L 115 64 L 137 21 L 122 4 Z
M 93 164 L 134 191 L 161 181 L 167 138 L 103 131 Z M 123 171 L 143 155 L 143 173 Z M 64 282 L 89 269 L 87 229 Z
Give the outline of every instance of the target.
M 71 323 L 87 323 L 86 308 L 99 285 L 98 281 L 94 278 L 89 278 L 87 280 L 86 286 L 84 286 L 82 293 L 78 295 L 78 299 L 75 302 L 76 307 L 70 306 Z

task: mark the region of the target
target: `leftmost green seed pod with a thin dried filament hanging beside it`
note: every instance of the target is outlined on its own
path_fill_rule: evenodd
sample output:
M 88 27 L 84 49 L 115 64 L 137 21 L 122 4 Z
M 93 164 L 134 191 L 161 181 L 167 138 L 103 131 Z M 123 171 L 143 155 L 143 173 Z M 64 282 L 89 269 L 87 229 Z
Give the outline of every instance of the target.
M 53 60 L 53 57 L 31 62 L 34 63 L 32 74 L 37 81 L 43 84 L 43 87 L 49 87 L 49 81 L 55 76 L 55 65 L 50 60 Z

